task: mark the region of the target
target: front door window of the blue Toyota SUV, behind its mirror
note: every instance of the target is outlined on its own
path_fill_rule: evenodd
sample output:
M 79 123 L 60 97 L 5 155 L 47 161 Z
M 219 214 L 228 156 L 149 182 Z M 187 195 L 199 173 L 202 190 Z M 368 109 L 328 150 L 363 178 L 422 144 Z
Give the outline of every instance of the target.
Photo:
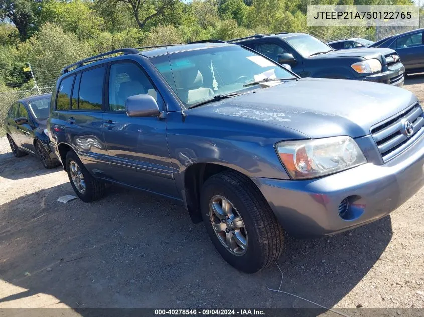
M 125 111 L 125 100 L 129 96 L 148 94 L 156 99 L 156 90 L 145 73 L 134 63 L 119 63 L 110 66 L 109 110 Z

